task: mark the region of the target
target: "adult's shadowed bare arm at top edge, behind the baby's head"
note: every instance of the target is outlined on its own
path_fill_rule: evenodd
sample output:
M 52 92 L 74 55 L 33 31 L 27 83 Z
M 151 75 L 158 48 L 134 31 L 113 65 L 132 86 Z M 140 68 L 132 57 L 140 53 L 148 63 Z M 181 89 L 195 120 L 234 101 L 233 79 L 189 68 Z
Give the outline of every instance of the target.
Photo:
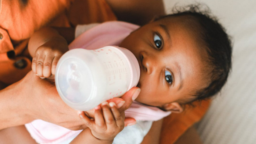
M 152 18 L 164 15 L 163 0 L 106 0 L 118 20 L 138 25 L 148 23 Z

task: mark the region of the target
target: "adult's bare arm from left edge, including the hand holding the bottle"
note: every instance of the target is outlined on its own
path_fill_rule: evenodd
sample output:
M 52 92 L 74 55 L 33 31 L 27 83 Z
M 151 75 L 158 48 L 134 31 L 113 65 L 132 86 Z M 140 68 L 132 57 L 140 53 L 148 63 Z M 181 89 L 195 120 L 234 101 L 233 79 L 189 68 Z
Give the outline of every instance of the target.
M 124 100 L 119 111 L 132 104 L 138 88 L 132 88 L 121 98 L 113 99 L 117 105 Z M 46 79 L 41 79 L 30 71 L 22 80 L 0 91 L 0 130 L 29 123 L 35 119 L 66 127 L 71 130 L 84 129 L 84 122 L 75 109 L 61 100 L 56 87 Z M 128 119 L 127 123 L 134 120 Z

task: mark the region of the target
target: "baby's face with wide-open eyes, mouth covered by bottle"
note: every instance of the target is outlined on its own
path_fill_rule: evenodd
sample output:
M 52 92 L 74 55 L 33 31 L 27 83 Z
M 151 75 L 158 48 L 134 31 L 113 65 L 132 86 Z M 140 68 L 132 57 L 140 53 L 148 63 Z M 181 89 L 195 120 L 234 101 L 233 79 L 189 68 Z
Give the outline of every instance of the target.
M 181 18 L 151 22 L 132 32 L 120 44 L 140 64 L 140 95 L 136 101 L 163 106 L 195 99 L 196 90 L 206 86 L 202 77 L 202 54 L 193 33 Z

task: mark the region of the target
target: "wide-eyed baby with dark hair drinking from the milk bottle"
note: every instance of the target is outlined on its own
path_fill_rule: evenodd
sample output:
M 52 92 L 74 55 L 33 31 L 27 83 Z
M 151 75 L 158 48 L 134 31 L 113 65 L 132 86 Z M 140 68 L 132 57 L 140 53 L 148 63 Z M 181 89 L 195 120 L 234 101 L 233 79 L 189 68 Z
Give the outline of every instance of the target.
M 196 8 L 159 17 L 140 28 L 118 21 L 94 25 L 89 30 L 88 26 L 78 26 L 76 35 L 82 34 L 69 48 L 96 49 L 107 45 L 127 48 L 140 65 L 138 87 L 141 92 L 136 101 L 180 113 L 186 104 L 219 92 L 231 68 L 232 48 L 225 29 Z M 68 42 L 72 40 L 70 35 L 52 28 L 31 37 L 32 70 L 38 76 L 54 75 L 58 60 L 68 51 L 68 43 L 61 35 Z M 112 102 L 103 102 L 94 111 L 94 120 L 79 113 L 89 127 L 80 135 L 84 135 L 87 142 L 112 143 L 124 128 L 123 114 Z M 109 124 L 108 120 L 115 123 Z M 75 140 L 83 141 L 83 138 Z

